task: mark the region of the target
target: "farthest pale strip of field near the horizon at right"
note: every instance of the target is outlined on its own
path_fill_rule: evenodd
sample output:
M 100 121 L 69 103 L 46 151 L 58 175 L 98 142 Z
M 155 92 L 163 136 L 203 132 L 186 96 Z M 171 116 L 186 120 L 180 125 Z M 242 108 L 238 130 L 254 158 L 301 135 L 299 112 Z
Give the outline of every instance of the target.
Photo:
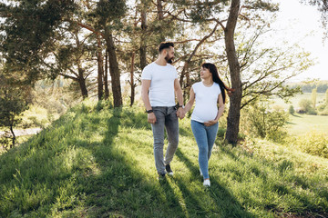
M 294 108 L 299 107 L 299 103 L 302 99 L 309 99 L 311 100 L 311 93 L 305 93 L 305 94 L 297 94 L 295 97 L 290 99 L 290 103 L 285 103 L 281 98 L 273 98 L 274 104 L 282 106 L 284 109 L 288 109 L 290 105 L 292 105 Z M 317 101 L 316 104 L 323 104 L 325 101 L 325 94 L 317 94 Z

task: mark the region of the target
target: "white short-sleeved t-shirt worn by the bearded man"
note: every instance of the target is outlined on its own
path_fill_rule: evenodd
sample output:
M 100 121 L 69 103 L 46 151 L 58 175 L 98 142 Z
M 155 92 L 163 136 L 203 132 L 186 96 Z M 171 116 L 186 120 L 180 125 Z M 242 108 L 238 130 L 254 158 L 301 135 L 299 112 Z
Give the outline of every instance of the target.
M 177 78 L 177 70 L 171 64 L 162 66 L 153 62 L 143 69 L 141 79 L 151 80 L 149 87 L 151 106 L 175 105 L 174 80 Z

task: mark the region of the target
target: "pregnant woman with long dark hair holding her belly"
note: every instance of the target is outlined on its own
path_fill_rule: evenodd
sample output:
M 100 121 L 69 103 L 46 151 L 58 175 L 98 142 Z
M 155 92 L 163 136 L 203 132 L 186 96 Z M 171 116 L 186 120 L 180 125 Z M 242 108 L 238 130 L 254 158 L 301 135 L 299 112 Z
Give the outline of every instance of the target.
M 199 147 L 200 175 L 204 178 L 203 185 L 210 186 L 209 160 L 218 133 L 218 122 L 224 111 L 225 90 L 228 94 L 233 90 L 220 80 L 214 64 L 201 64 L 200 78 L 201 82 L 191 86 L 190 100 L 184 110 L 185 113 L 190 111 L 196 100 L 191 114 L 191 129 Z M 219 103 L 219 110 L 217 103 Z

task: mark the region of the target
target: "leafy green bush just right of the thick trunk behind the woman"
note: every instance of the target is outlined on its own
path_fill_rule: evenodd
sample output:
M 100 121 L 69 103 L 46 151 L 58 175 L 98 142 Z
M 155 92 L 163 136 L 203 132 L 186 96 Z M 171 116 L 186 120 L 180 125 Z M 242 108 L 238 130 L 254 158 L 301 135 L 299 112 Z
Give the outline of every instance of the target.
M 288 114 L 283 110 L 270 111 L 268 104 L 258 103 L 249 106 L 242 115 L 242 125 L 246 126 L 246 132 L 255 137 L 266 137 L 275 142 L 282 142 L 286 136 L 283 127 L 288 121 Z

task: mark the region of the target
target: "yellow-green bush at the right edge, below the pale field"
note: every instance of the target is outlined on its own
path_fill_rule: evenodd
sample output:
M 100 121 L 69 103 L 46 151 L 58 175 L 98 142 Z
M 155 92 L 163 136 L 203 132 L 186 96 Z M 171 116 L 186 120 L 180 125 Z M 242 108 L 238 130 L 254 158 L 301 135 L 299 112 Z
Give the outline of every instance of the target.
M 302 152 L 328 158 L 327 134 L 311 131 L 291 140 L 291 146 L 299 148 Z

